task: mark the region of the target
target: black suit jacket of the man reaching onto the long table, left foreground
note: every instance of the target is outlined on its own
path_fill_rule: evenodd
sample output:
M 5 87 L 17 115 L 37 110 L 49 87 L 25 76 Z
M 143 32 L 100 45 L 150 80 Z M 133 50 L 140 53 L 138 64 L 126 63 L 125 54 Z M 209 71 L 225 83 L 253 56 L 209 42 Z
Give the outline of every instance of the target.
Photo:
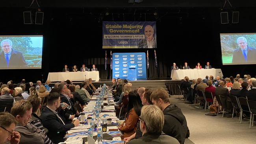
M 66 132 L 74 127 L 74 124 L 63 125 L 61 120 L 48 107 L 43 109 L 40 117 L 42 119 L 43 126 L 48 129 L 47 136 L 54 143 L 64 142 L 65 139 L 63 137 Z

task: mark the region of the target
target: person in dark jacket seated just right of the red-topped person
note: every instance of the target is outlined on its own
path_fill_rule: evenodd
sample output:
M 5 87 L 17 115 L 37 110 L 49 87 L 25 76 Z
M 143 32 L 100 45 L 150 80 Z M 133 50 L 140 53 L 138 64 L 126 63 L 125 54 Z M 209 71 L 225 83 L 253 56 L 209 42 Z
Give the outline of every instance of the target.
M 229 96 L 228 89 L 224 87 L 224 81 L 219 81 L 219 87 L 215 88 L 215 95 L 218 94 L 221 97 L 221 103 L 223 108 L 230 109 L 230 105 L 227 105 L 226 100 Z

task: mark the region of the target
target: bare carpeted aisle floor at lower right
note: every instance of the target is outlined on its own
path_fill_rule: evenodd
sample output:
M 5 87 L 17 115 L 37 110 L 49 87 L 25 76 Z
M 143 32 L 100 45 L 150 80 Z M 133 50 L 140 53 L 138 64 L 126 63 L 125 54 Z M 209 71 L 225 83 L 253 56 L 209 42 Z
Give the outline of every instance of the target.
M 185 104 L 178 96 L 171 96 L 170 102 L 186 116 L 190 137 L 185 144 L 256 144 L 256 126 L 250 129 L 250 120 L 243 119 L 240 124 L 239 118 L 230 115 L 206 116 L 209 110 Z

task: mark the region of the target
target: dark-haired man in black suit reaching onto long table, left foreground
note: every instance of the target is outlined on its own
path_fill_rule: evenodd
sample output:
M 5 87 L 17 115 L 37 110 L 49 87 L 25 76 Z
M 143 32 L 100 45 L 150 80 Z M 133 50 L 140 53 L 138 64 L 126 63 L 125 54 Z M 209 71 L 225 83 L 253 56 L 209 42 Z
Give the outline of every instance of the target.
M 63 118 L 56 112 L 60 107 L 60 95 L 57 92 L 49 94 L 47 99 L 47 106 L 41 113 L 41 119 L 43 126 L 48 129 L 48 137 L 52 142 L 58 144 L 64 142 L 63 138 L 67 131 L 71 128 L 79 125 L 79 120 L 75 120 L 73 124 L 65 124 Z M 66 107 L 62 107 L 65 109 Z

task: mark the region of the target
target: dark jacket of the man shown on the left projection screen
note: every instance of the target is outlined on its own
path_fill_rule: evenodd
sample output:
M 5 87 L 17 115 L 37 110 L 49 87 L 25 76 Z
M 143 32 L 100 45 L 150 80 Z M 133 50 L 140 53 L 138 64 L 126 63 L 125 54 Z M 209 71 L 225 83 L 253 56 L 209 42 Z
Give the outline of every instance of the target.
M 21 52 L 17 50 L 11 50 L 11 57 L 9 59 L 9 66 L 7 67 L 6 58 L 4 52 L 0 53 L 0 68 L 22 68 L 27 67 L 27 63 Z

